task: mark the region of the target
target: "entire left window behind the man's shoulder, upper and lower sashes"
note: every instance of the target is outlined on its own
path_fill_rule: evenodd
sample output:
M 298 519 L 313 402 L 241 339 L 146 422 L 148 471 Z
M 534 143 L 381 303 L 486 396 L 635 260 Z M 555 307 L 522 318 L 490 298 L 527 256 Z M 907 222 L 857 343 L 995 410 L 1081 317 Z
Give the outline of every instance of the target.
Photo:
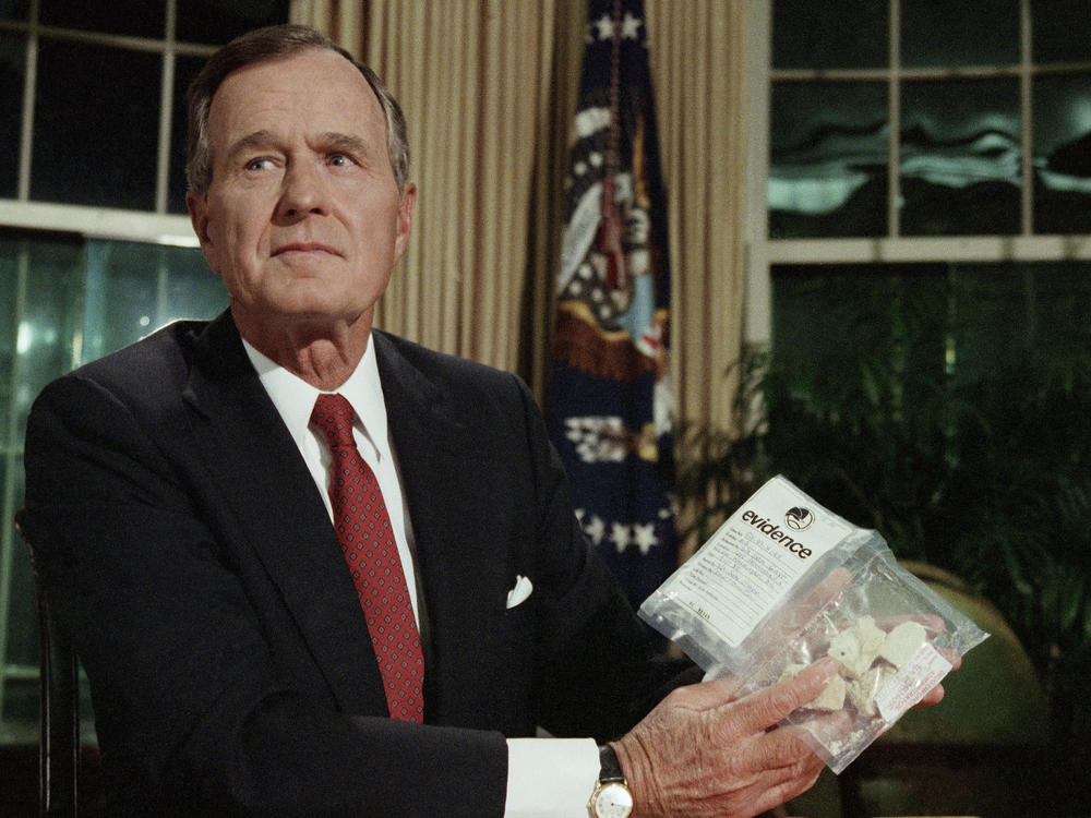
M 31 742 L 23 435 L 46 383 L 227 303 L 185 214 L 184 93 L 287 0 L 0 0 L 0 743 Z

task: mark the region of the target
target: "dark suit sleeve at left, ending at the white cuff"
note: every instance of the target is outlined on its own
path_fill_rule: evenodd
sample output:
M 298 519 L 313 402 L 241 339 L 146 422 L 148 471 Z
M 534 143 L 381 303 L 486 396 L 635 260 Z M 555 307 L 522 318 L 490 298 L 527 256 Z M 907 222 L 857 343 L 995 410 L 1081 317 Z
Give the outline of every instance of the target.
M 142 422 L 144 421 L 144 422 Z M 500 733 L 349 717 L 299 685 L 131 401 L 70 375 L 32 411 L 27 529 L 91 679 L 118 815 L 500 816 Z

